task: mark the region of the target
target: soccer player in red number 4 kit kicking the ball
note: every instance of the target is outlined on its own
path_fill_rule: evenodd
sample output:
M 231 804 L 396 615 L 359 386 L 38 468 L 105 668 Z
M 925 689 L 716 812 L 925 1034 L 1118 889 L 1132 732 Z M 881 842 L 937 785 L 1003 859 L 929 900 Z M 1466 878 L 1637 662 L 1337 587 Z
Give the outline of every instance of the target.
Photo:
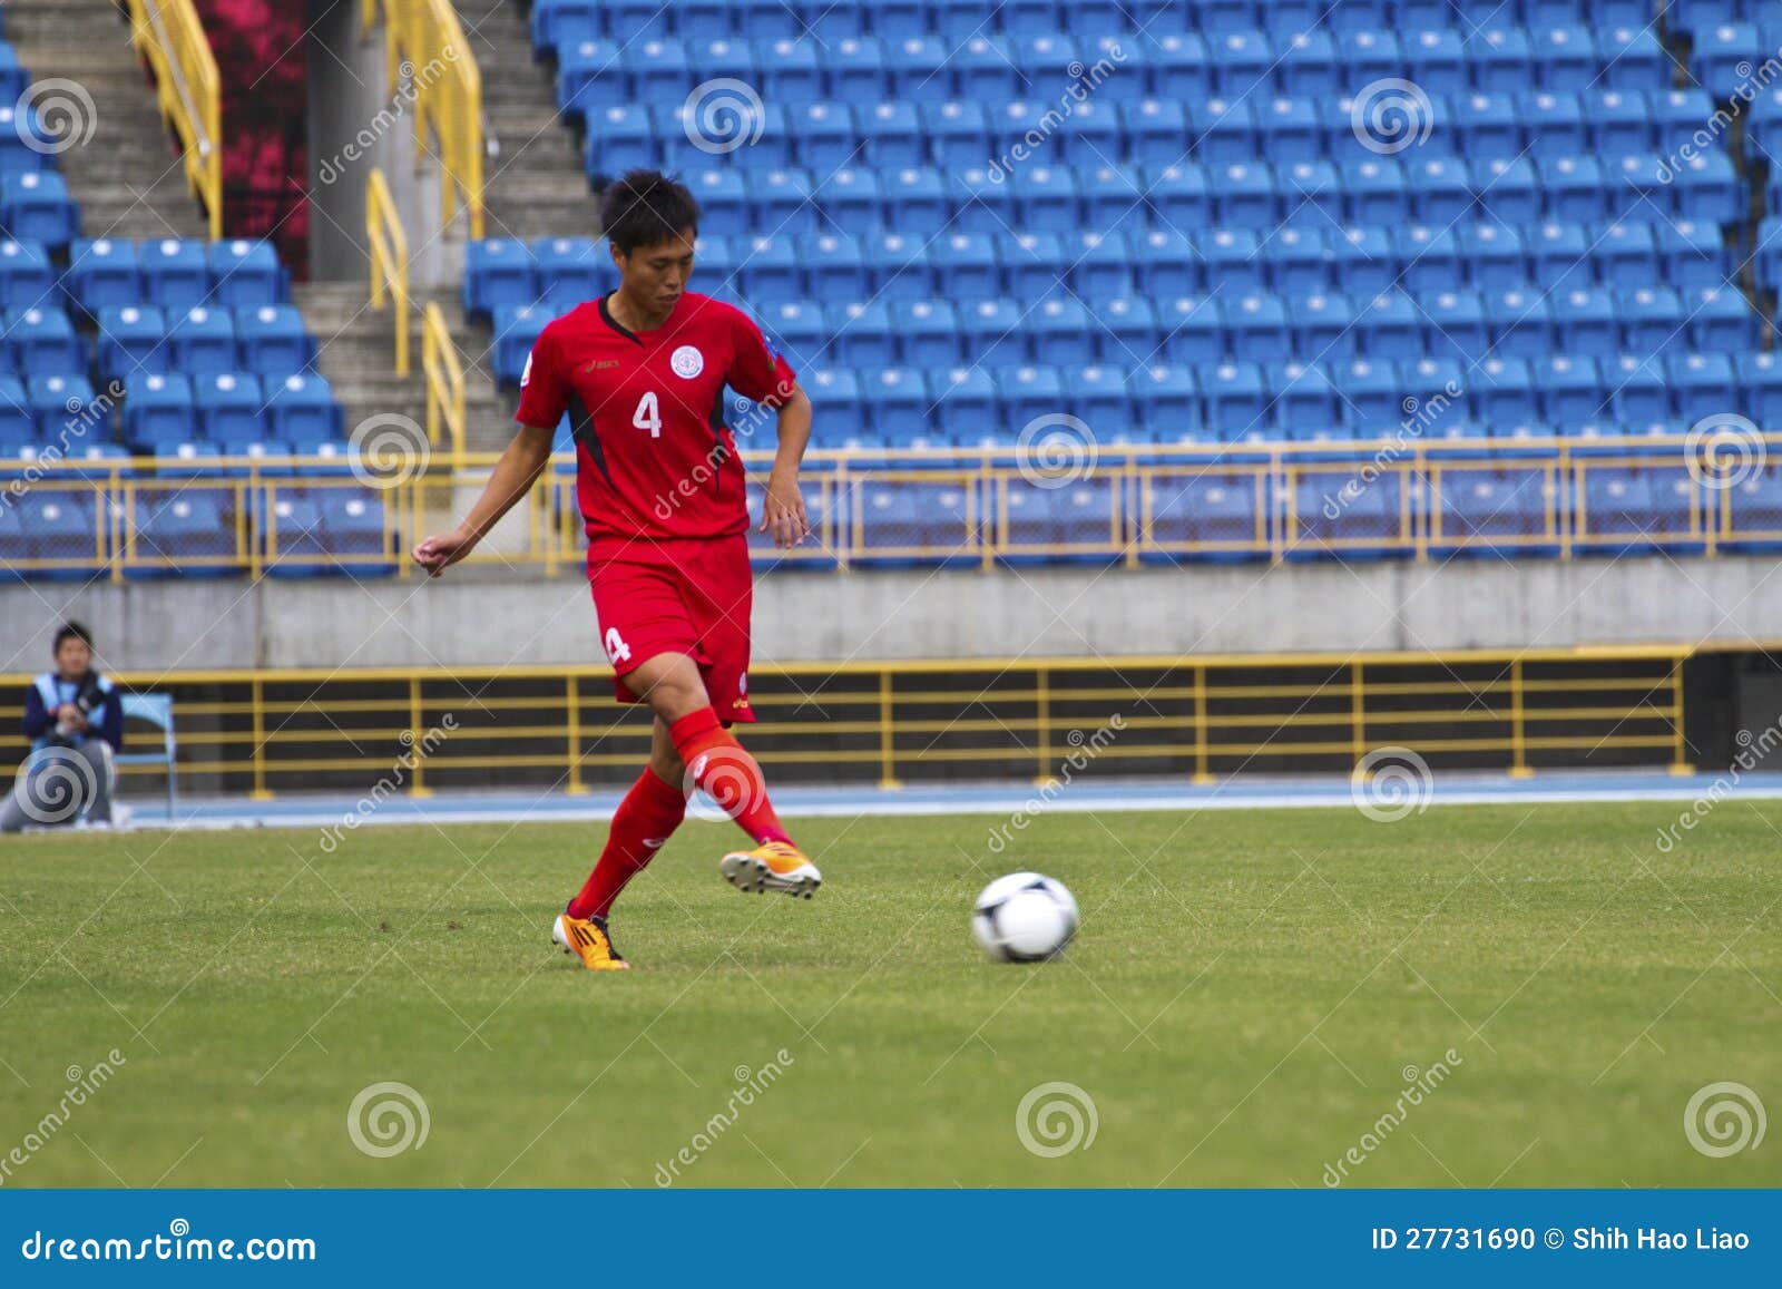
M 743 891 L 809 899 L 823 881 L 768 800 L 761 767 L 729 735 L 748 708 L 748 508 L 723 424 L 723 390 L 779 414 L 761 531 L 779 547 L 809 521 L 798 464 L 811 403 L 791 367 L 738 308 L 686 289 L 699 205 L 681 184 L 633 171 L 601 201 L 618 289 L 551 321 L 520 376 L 520 430 L 465 521 L 415 547 L 438 576 L 524 497 L 567 412 L 588 579 L 620 702 L 654 713 L 650 761 L 613 815 L 606 849 L 551 938 L 590 970 L 629 966 L 613 947 L 613 900 L 686 813 L 697 784 L 754 842 L 720 861 Z

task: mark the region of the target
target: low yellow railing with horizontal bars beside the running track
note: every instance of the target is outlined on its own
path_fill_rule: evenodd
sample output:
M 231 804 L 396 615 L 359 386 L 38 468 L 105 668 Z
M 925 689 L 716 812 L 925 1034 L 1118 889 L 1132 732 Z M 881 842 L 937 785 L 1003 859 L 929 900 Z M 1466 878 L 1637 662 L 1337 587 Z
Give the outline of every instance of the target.
M 1046 781 L 1108 774 L 1198 783 L 1347 772 L 1381 749 L 1436 768 L 1691 770 L 1680 647 L 982 658 L 757 663 L 750 751 L 782 779 L 896 786 L 969 765 Z M 180 774 L 216 790 L 486 786 L 492 772 L 622 786 L 650 727 L 606 667 L 305 669 L 121 674 L 175 692 Z M 23 690 L 29 677 L 0 677 Z M 11 695 L 0 702 L 12 701 Z M 25 754 L 0 735 L 0 761 Z M 151 767 L 130 772 L 151 774 Z

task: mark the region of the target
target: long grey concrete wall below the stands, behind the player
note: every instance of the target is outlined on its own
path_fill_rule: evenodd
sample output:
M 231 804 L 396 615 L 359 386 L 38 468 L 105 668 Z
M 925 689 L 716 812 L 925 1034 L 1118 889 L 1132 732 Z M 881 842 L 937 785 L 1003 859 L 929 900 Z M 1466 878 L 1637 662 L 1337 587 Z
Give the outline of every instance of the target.
M 772 574 L 757 661 L 1463 649 L 1782 640 L 1777 560 Z M 105 665 L 428 667 L 601 661 L 586 585 L 155 581 L 0 588 L 0 670 L 36 670 L 71 615 Z

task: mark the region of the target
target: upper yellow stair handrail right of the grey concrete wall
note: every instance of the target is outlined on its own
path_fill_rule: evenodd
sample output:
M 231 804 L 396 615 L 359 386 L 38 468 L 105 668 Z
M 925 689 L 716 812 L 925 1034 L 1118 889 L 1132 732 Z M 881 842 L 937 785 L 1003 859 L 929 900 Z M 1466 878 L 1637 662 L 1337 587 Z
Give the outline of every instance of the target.
M 360 32 L 380 16 L 390 93 L 413 102 L 415 150 L 428 150 L 429 130 L 438 143 L 440 219 L 462 207 L 470 237 L 483 237 L 483 73 L 458 12 L 451 0 L 365 0 Z

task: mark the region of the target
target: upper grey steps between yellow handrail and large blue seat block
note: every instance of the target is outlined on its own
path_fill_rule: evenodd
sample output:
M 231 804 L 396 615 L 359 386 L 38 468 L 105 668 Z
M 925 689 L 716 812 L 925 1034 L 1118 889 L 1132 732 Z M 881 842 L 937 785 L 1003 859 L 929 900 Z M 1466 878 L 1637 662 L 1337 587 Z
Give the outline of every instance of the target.
M 576 134 L 556 111 L 552 70 L 533 62 L 526 9 L 515 0 L 456 0 L 483 73 L 490 237 L 588 237 L 595 196 Z

